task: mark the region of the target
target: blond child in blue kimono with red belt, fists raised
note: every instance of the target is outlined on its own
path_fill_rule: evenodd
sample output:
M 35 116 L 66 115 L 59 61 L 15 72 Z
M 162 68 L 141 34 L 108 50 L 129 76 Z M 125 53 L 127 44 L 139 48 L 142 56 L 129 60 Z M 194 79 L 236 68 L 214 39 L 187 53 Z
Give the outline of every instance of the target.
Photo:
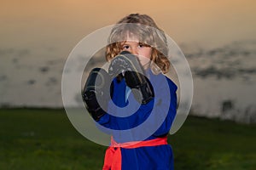
M 177 86 L 164 76 L 170 68 L 165 34 L 148 15 L 130 14 L 113 27 L 108 43 L 106 59 L 111 62 L 108 73 L 117 65 L 125 68 L 130 64 L 131 67 L 141 65 L 143 72 L 137 71 L 140 74 L 135 75 L 125 70 L 112 73 L 112 100 L 108 111 L 95 106 L 94 99 L 93 106 L 88 105 L 87 99 L 88 107 L 93 108 L 90 114 L 112 134 L 103 169 L 173 169 L 172 148 L 166 136 L 176 116 Z M 111 77 L 106 76 L 108 73 L 103 74 L 105 79 Z M 137 79 L 142 79 L 143 85 L 132 87 Z M 132 88 L 143 94 L 139 106 L 137 91 Z M 140 128 L 144 123 L 148 123 L 147 126 Z

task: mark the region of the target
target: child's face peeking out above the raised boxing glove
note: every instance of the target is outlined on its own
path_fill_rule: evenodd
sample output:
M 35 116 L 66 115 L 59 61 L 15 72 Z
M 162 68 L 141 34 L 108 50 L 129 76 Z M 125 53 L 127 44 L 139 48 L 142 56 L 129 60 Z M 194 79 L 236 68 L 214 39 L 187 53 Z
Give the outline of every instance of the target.
M 128 39 L 122 44 L 122 51 L 128 51 L 131 54 L 136 55 L 141 65 L 143 65 L 143 68 L 148 68 L 152 55 L 151 47 L 143 45 L 143 43 L 138 42 L 135 39 Z

